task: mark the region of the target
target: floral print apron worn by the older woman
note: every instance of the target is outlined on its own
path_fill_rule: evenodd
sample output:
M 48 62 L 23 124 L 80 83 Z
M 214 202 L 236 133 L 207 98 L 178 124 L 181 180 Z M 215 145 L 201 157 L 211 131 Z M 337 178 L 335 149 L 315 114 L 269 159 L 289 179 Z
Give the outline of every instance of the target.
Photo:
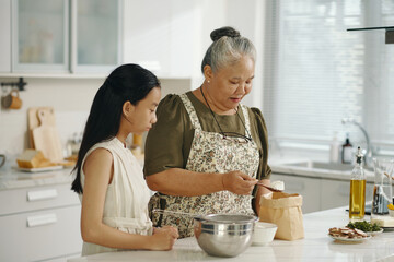
M 256 143 L 253 140 L 246 142 L 242 138 L 227 136 L 224 139 L 220 133 L 204 131 L 187 95 L 181 95 L 181 99 L 195 129 L 186 169 L 197 172 L 220 174 L 240 170 L 255 178 L 259 165 L 259 153 Z M 243 105 L 241 107 L 245 118 L 246 133 L 251 133 L 247 108 Z M 185 212 L 195 215 L 218 213 L 254 214 L 252 198 L 252 195 L 239 195 L 227 190 L 198 196 L 174 196 L 158 192 L 152 195 L 149 210 L 154 226 L 175 226 L 178 228 L 179 237 L 184 238 L 194 235 L 193 216 L 171 214 L 171 212 Z M 154 209 L 169 212 L 152 212 Z

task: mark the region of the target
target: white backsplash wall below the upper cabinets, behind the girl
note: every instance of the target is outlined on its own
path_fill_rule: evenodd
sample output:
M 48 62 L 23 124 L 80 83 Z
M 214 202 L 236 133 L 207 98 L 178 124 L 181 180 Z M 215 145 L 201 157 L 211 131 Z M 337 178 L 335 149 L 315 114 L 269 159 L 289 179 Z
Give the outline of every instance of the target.
M 27 109 L 50 106 L 55 109 L 56 126 L 63 145 L 74 132 L 82 132 L 93 97 L 104 79 L 24 79 L 26 91 L 20 92 L 21 109 L 0 108 L 0 154 L 11 157 L 28 147 Z M 0 78 L 0 82 L 16 79 Z M 162 96 L 189 90 L 189 80 L 161 80 Z M 3 94 L 9 87 L 2 88 Z

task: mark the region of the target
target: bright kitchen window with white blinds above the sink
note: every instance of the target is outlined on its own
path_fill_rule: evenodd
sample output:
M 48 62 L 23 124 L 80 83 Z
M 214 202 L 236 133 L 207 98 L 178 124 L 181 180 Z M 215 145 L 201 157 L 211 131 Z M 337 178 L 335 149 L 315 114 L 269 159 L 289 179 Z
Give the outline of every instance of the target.
M 375 153 L 394 150 L 394 45 L 392 0 L 268 0 L 264 108 L 269 136 L 280 144 L 328 148 L 350 134 L 366 147 L 350 117 L 368 131 Z

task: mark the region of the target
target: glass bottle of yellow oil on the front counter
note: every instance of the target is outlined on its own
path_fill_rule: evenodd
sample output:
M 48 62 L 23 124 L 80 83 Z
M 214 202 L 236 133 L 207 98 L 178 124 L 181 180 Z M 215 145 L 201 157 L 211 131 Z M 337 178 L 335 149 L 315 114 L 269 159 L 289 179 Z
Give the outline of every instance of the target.
M 366 214 L 366 174 L 360 146 L 356 155 L 355 168 L 350 175 L 349 219 L 362 221 Z

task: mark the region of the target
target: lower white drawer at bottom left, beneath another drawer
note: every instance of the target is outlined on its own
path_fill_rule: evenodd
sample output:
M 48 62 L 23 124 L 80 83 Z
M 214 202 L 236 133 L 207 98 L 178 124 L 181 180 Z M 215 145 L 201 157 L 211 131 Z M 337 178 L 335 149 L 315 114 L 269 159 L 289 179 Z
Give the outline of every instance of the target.
M 80 253 L 80 206 L 0 217 L 0 261 L 37 261 Z

